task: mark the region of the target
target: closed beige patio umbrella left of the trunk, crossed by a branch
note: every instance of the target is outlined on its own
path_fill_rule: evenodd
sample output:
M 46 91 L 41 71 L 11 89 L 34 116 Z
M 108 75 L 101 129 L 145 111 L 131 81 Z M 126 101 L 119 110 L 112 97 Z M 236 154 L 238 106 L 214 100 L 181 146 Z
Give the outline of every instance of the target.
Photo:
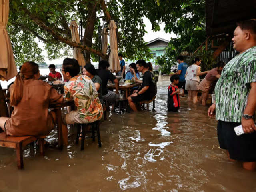
M 71 40 L 76 42 L 76 43 L 80 43 L 80 39 L 79 39 L 79 34 L 78 34 L 78 25 L 76 23 L 75 20 L 71 21 L 71 24 L 69 26 L 70 30 L 71 30 Z M 78 64 L 82 67 L 85 66 L 85 60 L 84 60 L 84 55 L 82 53 L 81 49 L 78 48 L 73 48 L 73 58 L 76 59 L 78 61 Z

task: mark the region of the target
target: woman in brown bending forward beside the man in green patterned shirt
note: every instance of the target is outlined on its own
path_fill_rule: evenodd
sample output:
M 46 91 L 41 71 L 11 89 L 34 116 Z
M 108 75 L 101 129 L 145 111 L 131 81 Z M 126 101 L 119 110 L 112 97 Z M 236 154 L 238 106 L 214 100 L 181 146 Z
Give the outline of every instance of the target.
M 208 93 L 210 90 L 210 87 L 212 86 L 212 83 L 218 78 L 220 78 L 220 74 L 222 72 L 222 69 L 224 68 L 225 63 L 223 61 L 219 61 L 216 64 L 216 68 L 213 68 L 208 72 L 208 74 L 205 76 L 205 78 L 200 82 L 198 89 L 202 92 L 202 105 L 206 105 L 206 100 L 208 98 Z M 200 98 L 201 99 L 201 98 Z

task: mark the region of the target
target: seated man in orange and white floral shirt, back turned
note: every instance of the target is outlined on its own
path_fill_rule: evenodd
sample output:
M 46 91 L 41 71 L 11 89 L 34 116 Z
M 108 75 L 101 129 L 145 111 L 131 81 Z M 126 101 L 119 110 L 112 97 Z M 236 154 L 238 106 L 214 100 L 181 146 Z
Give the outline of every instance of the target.
M 80 75 L 80 66 L 76 59 L 66 58 L 62 64 L 65 99 L 74 100 L 77 110 L 71 111 L 63 117 L 65 124 L 92 123 L 100 120 L 103 107 L 98 92 L 92 80 L 86 75 Z

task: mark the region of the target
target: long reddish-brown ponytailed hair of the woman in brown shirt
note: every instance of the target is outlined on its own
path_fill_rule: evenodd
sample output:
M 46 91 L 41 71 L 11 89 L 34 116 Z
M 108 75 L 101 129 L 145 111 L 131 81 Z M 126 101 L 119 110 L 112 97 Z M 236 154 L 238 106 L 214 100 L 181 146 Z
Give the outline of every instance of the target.
M 10 95 L 10 104 L 16 106 L 20 103 L 23 96 L 23 81 L 32 79 L 34 74 L 39 72 L 38 64 L 33 61 L 25 62 L 20 70 L 20 73 L 16 75 L 14 81 L 14 87 Z

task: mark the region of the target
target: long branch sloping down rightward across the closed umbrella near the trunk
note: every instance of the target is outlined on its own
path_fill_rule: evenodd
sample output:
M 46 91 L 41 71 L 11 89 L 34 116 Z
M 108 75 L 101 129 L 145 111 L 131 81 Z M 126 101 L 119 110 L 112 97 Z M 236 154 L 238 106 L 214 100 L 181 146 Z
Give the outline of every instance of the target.
M 32 13 L 30 13 L 30 11 L 23 7 L 22 8 L 24 10 L 24 12 L 30 17 L 30 19 L 35 23 L 37 24 L 40 28 L 42 28 L 43 30 L 47 31 L 49 34 L 51 34 L 55 39 L 65 43 L 65 44 L 68 44 L 69 46 L 71 47 L 76 47 L 76 48 L 80 48 L 82 50 L 86 50 L 90 53 L 93 53 L 93 54 L 96 54 L 98 56 L 101 56 L 102 58 L 106 58 L 106 55 L 104 55 L 102 52 L 98 51 L 98 50 L 95 50 L 91 47 L 88 47 L 88 46 L 84 46 L 84 45 L 81 45 L 81 44 L 78 44 L 76 42 L 73 42 L 71 41 L 70 39 L 68 38 L 63 38 L 62 36 L 60 36 L 60 34 L 57 34 L 56 32 L 54 32 L 54 30 L 52 30 L 50 27 L 46 26 L 46 24 L 44 24 L 44 22 L 42 22 L 42 20 L 40 20 L 40 18 L 34 16 Z

